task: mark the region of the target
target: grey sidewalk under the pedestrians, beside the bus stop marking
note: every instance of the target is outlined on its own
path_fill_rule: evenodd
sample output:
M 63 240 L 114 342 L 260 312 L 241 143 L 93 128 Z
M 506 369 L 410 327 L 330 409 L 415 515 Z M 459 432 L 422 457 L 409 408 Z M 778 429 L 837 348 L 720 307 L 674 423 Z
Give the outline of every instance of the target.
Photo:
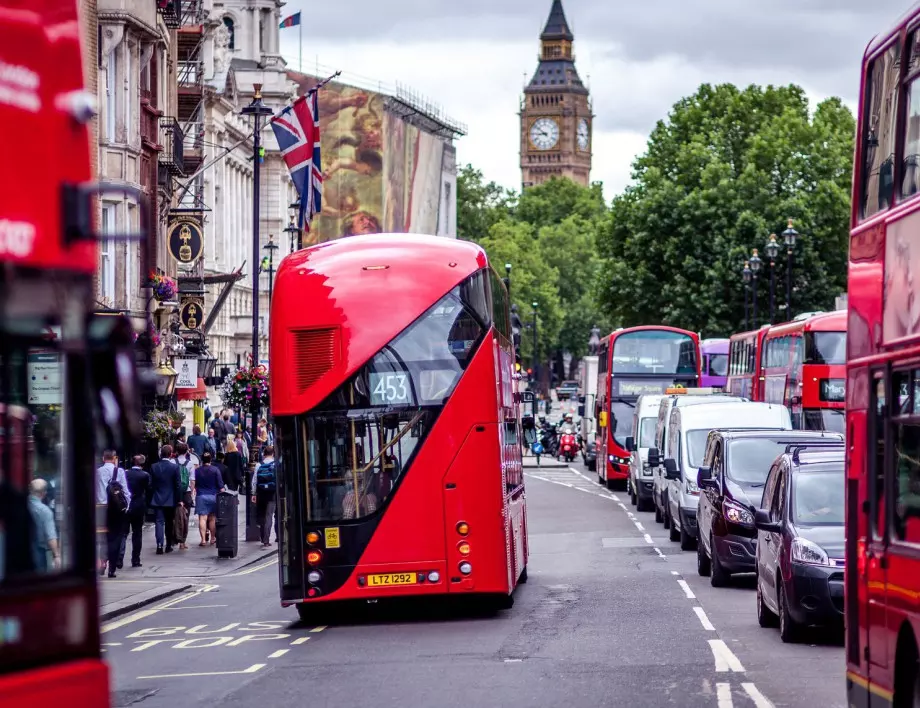
M 277 546 L 262 550 L 258 541 L 246 542 L 246 504 L 240 496 L 239 552 L 236 558 L 218 558 L 217 547 L 199 547 L 198 517 L 189 518 L 188 550 L 176 547 L 172 553 L 158 556 L 153 524 L 144 525 L 141 568 L 131 567 L 131 534 L 125 550 L 125 567 L 117 576 L 99 576 L 99 614 L 102 620 L 136 610 L 139 607 L 187 590 L 205 578 L 233 573 L 256 561 L 277 553 Z M 255 508 L 252 513 L 255 514 Z M 274 536 L 274 533 L 272 534 Z

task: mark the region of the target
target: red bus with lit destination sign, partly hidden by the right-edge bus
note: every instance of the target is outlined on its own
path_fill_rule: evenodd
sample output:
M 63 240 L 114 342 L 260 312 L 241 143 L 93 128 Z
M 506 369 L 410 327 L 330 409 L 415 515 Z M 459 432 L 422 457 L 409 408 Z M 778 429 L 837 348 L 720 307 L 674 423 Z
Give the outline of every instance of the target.
M 843 310 L 770 327 L 755 400 L 786 406 L 796 429 L 844 432 L 846 331 Z

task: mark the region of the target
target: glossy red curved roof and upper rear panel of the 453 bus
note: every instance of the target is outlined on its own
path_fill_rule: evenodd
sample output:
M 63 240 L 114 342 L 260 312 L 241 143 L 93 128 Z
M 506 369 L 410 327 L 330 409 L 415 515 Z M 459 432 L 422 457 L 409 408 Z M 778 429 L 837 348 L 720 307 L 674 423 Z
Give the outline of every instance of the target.
M 272 411 L 315 407 L 487 265 L 474 243 L 420 234 L 350 236 L 287 256 L 269 320 Z

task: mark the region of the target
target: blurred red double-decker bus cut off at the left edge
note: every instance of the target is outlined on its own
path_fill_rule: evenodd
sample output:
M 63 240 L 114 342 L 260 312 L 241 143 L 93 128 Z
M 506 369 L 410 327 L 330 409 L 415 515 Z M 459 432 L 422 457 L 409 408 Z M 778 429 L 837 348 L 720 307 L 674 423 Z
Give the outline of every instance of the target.
M 41 136 L 0 176 L 3 708 L 109 705 L 93 444 L 127 447 L 141 433 L 131 325 L 90 309 L 100 188 L 79 28 L 75 0 L 0 0 L 0 131 L 8 153 L 22 126 Z

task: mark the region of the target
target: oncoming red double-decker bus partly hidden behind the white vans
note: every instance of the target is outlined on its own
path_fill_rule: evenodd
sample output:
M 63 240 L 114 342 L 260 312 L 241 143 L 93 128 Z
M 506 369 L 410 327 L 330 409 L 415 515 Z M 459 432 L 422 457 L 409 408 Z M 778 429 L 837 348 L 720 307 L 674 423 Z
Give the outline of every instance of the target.
M 629 478 L 626 438 L 632 434 L 637 399 L 697 386 L 700 338 L 676 327 L 618 329 L 601 340 L 597 370 L 597 476 L 611 487 Z

